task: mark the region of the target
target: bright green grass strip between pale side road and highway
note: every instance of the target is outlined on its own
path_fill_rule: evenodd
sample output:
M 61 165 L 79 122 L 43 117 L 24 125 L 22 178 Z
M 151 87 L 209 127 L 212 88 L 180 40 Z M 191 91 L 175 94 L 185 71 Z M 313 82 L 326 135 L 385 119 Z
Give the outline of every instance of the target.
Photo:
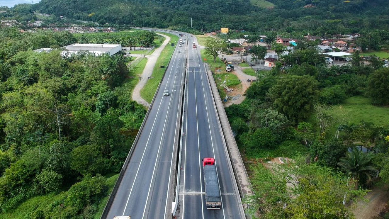
M 168 33 L 160 33 L 164 35 L 168 35 L 170 37 L 169 43 L 165 46 L 165 48 L 161 51 L 161 55 L 159 55 L 154 69 L 152 71 L 150 79 L 147 80 L 145 86 L 140 90 L 140 96 L 147 102 L 152 101 L 152 97 L 157 90 L 158 84 L 162 79 L 163 74 L 165 73 L 166 66 L 169 63 L 170 57 L 172 57 L 173 51 L 175 47 L 170 46 L 170 43 L 177 43 L 178 36 Z M 165 66 L 165 68 L 161 68 L 161 66 Z

